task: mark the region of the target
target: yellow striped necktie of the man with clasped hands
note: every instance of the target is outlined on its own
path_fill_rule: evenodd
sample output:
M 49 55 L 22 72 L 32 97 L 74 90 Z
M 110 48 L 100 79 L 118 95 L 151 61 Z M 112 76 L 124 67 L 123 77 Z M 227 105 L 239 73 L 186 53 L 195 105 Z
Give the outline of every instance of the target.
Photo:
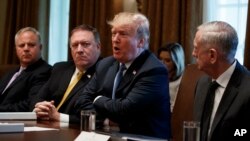
M 63 98 L 60 102 L 60 104 L 56 107 L 57 110 L 60 109 L 60 107 L 62 106 L 62 104 L 64 103 L 64 101 L 66 100 L 66 98 L 68 97 L 69 93 L 71 92 L 71 90 L 75 87 L 75 85 L 77 84 L 77 82 L 81 79 L 83 75 L 83 72 L 78 72 L 76 74 L 76 77 L 70 82 L 66 92 L 63 95 Z

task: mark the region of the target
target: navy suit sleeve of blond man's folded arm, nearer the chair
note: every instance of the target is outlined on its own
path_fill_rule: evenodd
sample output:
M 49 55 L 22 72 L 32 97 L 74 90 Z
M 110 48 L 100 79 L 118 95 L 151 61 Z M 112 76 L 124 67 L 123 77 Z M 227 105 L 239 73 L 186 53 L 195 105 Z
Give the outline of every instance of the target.
M 161 101 L 169 101 L 166 80 L 165 70 L 153 69 L 133 80 L 131 85 L 134 86 L 131 90 L 127 90 L 126 97 L 112 100 L 110 97 L 102 96 L 95 101 L 94 106 L 99 113 L 116 122 L 137 118 L 133 115 L 138 113 L 141 113 L 141 116 L 147 114 L 147 111 L 152 113 L 150 107 L 155 107 L 158 103 L 162 103 Z M 167 105 L 159 107 L 164 109 Z

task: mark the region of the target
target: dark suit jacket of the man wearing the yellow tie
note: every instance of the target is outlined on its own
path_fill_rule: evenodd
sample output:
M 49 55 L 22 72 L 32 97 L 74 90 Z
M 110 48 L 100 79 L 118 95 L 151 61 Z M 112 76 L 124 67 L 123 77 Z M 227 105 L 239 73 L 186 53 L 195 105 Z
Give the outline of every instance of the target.
M 70 83 L 71 77 L 76 69 L 73 61 L 59 62 L 53 66 L 52 74 L 48 82 L 44 85 L 38 94 L 38 97 L 33 100 L 31 109 L 34 108 L 36 102 L 44 100 L 55 101 L 55 106 L 58 106 L 61 99 Z M 83 89 L 83 87 L 89 82 L 92 75 L 95 72 L 95 65 L 89 68 L 81 80 L 75 85 L 72 91 L 69 93 L 65 102 L 58 110 L 60 113 L 69 114 L 70 123 L 80 122 L 80 115 L 76 115 L 74 110 L 74 104 L 77 99 L 77 93 Z

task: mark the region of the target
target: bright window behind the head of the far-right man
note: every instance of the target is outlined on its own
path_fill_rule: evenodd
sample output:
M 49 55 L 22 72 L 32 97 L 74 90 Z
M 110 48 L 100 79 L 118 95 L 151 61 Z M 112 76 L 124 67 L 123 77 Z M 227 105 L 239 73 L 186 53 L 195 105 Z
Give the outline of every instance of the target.
M 232 25 L 238 33 L 236 58 L 243 64 L 248 0 L 204 0 L 203 21 L 220 20 Z

